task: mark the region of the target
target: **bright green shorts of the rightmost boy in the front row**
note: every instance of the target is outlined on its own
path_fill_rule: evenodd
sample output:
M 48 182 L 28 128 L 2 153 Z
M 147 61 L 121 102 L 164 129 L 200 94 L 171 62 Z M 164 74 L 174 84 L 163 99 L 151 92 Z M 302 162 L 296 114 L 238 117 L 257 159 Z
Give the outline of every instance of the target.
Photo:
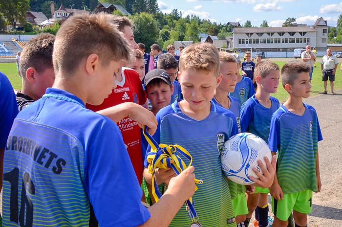
M 285 194 L 284 199 L 276 200 L 272 196 L 272 211 L 278 219 L 286 221 L 292 210 L 299 213 L 311 213 L 312 191 L 304 190 L 301 192 Z

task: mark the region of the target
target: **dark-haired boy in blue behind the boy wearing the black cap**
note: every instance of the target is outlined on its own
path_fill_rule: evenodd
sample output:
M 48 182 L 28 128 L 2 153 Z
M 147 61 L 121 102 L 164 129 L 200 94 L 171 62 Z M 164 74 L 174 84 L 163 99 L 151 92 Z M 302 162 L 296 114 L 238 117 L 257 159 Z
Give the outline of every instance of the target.
M 164 69 L 170 76 L 171 83 L 173 85 L 170 104 L 172 104 L 176 99 L 182 98 L 180 84 L 175 80 L 178 73 L 177 60 L 171 54 L 163 54 L 158 59 L 157 68 Z

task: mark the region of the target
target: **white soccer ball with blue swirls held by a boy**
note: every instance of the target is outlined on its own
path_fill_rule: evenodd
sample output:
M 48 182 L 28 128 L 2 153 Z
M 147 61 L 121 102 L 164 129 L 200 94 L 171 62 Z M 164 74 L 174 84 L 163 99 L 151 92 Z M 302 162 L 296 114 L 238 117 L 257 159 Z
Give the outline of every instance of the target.
M 266 165 L 264 157 L 270 161 L 272 154 L 267 143 L 251 133 L 240 133 L 230 137 L 223 145 L 221 166 L 225 175 L 238 184 L 253 184 L 250 176 L 258 178 L 253 167 L 262 174 L 257 160 Z

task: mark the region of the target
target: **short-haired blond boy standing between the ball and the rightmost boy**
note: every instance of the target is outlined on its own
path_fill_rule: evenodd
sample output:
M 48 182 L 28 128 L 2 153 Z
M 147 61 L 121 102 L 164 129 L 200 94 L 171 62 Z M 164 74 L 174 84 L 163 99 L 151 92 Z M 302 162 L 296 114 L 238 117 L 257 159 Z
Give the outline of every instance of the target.
M 277 92 L 279 85 L 279 66 L 270 61 L 260 62 L 256 66 L 256 94 L 241 107 L 241 131 L 250 132 L 268 141 L 272 114 L 279 108 L 277 98 L 270 96 Z M 268 226 L 267 188 L 256 187 L 254 194 L 248 195 L 247 203 L 250 219 L 256 210 L 259 227 Z

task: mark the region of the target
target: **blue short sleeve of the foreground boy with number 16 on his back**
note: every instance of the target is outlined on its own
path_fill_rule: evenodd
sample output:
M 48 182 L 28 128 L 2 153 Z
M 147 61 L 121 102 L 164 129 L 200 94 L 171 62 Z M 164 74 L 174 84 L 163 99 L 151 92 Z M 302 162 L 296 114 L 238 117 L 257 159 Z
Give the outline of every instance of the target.
M 98 128 L 85 151 L 85 188 L 95 216 L 101 227 L 141 225 L 150 213 L 140 202 L 142 190 L 121 133 L 109 119 Z

